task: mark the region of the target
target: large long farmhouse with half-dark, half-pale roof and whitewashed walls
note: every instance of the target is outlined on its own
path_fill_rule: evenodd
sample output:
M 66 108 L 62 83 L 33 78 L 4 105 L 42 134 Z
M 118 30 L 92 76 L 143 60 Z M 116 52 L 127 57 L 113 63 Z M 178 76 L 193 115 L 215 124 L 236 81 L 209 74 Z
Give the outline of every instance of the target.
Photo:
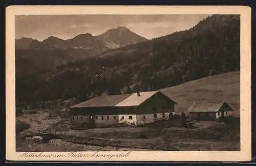
M 159 91 L 99 96 L 70 107 L 71 124 L 143 125 L 173 115 L 175 101 Z

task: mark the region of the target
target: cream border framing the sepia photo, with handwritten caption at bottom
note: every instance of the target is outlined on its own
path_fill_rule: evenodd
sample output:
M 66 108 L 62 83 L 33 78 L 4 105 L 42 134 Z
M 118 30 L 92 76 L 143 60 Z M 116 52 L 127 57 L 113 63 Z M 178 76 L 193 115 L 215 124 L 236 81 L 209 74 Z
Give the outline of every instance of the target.
M 132 151 L 125 157 L 22 157 L 15 152 L 15 15 L 240 14 L 241 151 Z M 82 152 L 94 154 L 95 152 Z M 98 154 L 120 154 L 103 151 Z M 127 152 L 123 152 L 126 154 Z M 34 154 L 40 154 L 35 152 Z M 56 155 L 58 154 L 58 155 Z M 88 155 L 90 156 L 90 155 Z M 251 9 L 246 6 L 9 6 L 6 8 L 6 159 L 19 161 L 249 161 L 251 159 Z

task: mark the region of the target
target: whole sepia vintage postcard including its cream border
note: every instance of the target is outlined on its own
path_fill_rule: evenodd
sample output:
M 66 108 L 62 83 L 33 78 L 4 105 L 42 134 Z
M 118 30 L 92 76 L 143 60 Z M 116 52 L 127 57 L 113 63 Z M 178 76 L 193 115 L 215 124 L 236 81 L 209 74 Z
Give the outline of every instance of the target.
M 249 161 L 246 6 L 9 6 L 6 159 Z

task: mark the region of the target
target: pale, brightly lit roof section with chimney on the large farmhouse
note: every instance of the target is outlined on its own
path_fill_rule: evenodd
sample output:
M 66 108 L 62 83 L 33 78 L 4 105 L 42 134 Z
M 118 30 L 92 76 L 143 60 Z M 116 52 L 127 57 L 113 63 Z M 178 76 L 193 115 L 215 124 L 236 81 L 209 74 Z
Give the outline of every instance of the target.
M 158 91 L 140 92 L 140 96 L 137 96 L 137 93 L 134 93 L 131 96 L 119 102 L 118 104 L 116 104 L 115 106 L 137 106 L 143 103 L 148 98 L 155 95 L 157 92 Z

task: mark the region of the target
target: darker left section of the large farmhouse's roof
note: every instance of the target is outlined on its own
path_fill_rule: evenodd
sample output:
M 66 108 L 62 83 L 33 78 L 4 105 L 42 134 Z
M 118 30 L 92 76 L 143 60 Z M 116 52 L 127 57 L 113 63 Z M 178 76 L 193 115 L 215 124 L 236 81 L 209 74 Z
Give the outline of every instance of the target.
M 115 106 L 120 101 L 124 100 L 130 95 L 132 94 L 98 96 L 90 100 L 76 104 L 70 108 Z

